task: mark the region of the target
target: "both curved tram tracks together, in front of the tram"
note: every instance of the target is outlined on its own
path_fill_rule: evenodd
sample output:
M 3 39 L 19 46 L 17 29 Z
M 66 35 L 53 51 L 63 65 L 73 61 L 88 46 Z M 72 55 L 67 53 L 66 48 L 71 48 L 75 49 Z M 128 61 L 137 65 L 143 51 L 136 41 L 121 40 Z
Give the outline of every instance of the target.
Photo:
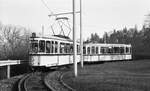
M 61 80 L 65 71 L 26 74 L 18 82 L 18 91 L 72 91 L 72 89 L 64 86 Z

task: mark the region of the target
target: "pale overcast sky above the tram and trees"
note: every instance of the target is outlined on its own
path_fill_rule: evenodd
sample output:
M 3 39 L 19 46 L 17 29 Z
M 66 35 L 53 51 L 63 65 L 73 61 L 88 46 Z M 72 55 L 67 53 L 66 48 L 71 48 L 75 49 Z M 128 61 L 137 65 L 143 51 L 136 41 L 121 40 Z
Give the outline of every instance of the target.
M 44 5 L 46 3 L 47 7 Z M 82 0 L 83 37 L 91 33 L 102 36 L 104 32 L 135 25 L 140 29 L 145 15 L 150 13 L 150 0 Z M 2 24 L 21 25 L 33 32 L 52 34 L 50 25 L 54 25 L 59 34 L 55 17 L 49 14 L 72 11 L 72 0 L 0 0 L 0 22 Z M 79 0 L 76 0 L 79 11 Z M 64 17 L 64 16 L 63 16 Z M 66 15 L 72 23 L 72 15 Z M 76 14 L 77 37 L 79 37 L 79 14 Z M 67 24 L 67 21 L 64 21 Z M 69 30 L 65 30 L 65 34 Z

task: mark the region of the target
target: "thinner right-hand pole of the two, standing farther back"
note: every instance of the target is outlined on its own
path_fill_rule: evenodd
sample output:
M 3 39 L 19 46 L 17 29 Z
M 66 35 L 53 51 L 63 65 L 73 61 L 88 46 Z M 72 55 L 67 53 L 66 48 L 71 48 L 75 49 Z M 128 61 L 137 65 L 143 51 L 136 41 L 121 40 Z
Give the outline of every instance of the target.
M 83 38 L 82 38 L 82 0 L 80 0 L 80 61 L 83 68 Z

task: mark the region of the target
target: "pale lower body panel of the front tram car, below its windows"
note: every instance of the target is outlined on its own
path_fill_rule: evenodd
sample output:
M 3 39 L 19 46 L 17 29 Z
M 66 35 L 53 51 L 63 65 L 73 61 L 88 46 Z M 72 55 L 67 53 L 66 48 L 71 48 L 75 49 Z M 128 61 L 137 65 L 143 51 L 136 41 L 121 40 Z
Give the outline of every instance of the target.
M 77 55 L 77 62 L 80 61 L 80 56 Z M 31 56 L 32 66 L 61 66 L 73 63 L 73 55 L 54 55 L 54 56 Z

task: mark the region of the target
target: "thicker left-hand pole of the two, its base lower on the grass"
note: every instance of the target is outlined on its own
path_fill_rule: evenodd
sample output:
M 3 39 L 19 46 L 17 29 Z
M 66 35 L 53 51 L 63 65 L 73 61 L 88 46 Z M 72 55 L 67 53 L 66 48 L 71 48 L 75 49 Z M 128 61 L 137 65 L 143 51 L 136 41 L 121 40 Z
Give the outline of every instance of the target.
M 75 0 L 73 0 L 73 62 L 74 62 L 74 75 L 77 77 L 77 46 L 76 46 L 76 9 Z

